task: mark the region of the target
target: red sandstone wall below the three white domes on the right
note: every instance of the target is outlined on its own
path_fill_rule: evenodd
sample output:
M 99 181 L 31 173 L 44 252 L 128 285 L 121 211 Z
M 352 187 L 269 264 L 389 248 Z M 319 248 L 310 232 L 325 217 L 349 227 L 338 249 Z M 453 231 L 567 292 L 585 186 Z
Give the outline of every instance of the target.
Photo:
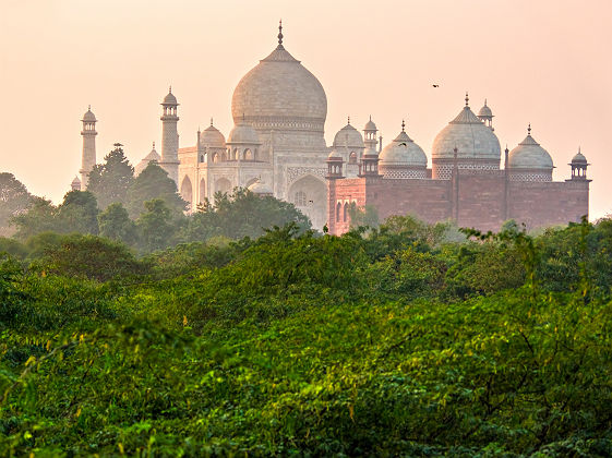
M 381 221 L 392 215 L 415 215 L 427 222 L 455 218 L 453 180 L 391 180 L 356 178 L 329 181 L 329 232 L 349 229 L 344 205 L 373 205 Z M 460 170 L 458 177 L 458 225 L 497 231 L 506 219 L 525 222 L 528 228 L 579 221 L 588 213 L 587 181 L 508 182 L 501 170 Z M 340 202 L 340 220 L 336 205 Z M 504 206 L 507 206 L 505 208 Z

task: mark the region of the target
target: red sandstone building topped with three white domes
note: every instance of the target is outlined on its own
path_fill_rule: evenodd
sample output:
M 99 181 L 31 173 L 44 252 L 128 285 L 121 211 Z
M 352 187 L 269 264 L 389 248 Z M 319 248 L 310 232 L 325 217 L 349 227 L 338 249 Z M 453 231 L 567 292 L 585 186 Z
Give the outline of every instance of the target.
M 538 228 L 588 216 L 590 180 L 585 156 L 580 152 L 574 156 L 569 179 L 552 181 L 552 158 L 533 140 L 529 126 L 516 148 L 506 148 L 501 169 L 492 119 L 487 103 L 476 116 L 466 96 L 461 112 L 434 141 L 431 169 L 404 123 L 399 135 L 376 152 L 376 126 L 370 121 L 357 178 L 343 176 L 344 168 L 356 166 L 350 135 L 361 137 L 347 125 L 345 147 L 335 148 L 327 159 L 329 232 L 348 231 L 353 204 L 374 207 L 380 220 L 410 214 L 428 222 L 451 219 L 459 227 L 480 230 L 499 230 L 508 219 Z

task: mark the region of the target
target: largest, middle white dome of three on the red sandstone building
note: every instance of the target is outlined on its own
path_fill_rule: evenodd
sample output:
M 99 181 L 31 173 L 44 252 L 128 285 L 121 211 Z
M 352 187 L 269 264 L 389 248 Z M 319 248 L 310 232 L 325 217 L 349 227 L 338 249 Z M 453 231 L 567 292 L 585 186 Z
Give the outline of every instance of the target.
M 499 162 L 502 157 L 497 136 L 468 105 L 436 135 L 431 153 L 432 160 L 453 159 L 455 147 L 458 149 L 458 158 L 464 160 L 488 159 Z

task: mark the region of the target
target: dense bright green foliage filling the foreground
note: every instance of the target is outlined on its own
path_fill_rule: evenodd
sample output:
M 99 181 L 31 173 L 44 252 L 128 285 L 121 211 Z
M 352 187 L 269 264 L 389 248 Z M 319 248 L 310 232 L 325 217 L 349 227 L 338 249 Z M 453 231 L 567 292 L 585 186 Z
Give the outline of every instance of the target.
M 610 456 L 612 222 L 467 234 L 3 241 L 0 453 Z

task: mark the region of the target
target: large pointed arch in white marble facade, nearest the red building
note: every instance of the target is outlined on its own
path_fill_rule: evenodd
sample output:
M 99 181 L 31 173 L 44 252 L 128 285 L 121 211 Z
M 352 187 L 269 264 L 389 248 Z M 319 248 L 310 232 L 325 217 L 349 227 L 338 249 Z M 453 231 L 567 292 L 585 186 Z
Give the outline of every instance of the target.
M 321 230 L 327 216 L 327 186 L 322 179 L 307 174 L 289 188 L 288 200 Z

